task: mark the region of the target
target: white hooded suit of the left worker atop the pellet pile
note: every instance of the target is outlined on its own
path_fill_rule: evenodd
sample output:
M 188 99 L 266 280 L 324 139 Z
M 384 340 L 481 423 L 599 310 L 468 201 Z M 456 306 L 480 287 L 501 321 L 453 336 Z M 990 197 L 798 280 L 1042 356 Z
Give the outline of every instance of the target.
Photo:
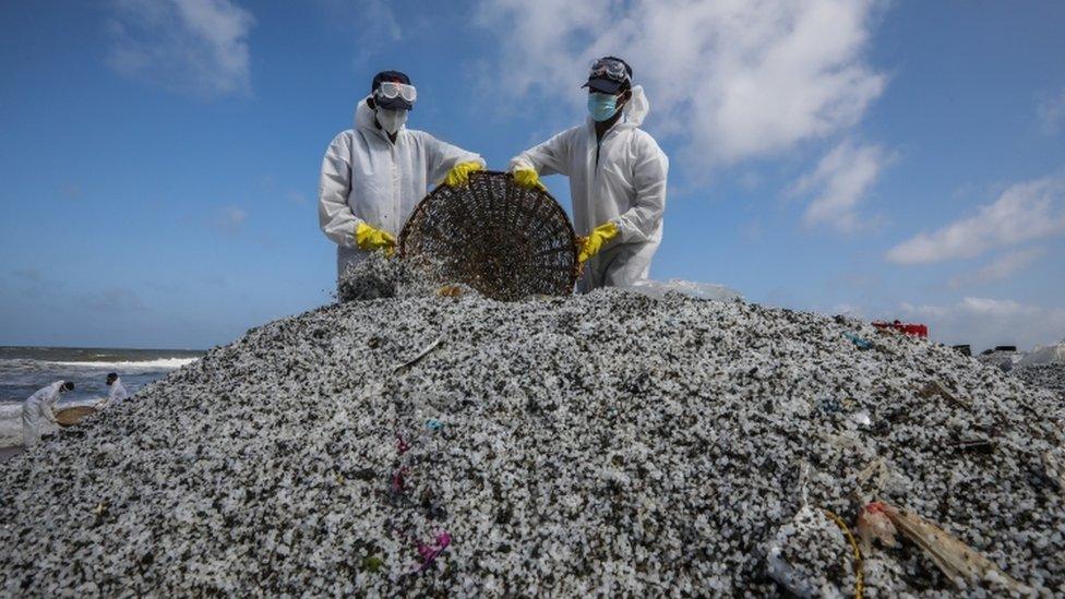
M 400 127 L 392 143 L 378 129 L 366 99 L 355 109 L 355 129 L 342 132 L 322 160 L 318 215 L 325 237 L 337 244 L 337 279 L 362 261 L 355 230 L 360 221 L 396 238 L 418 202 L 460 163 L 484 160 L 429 133 Z

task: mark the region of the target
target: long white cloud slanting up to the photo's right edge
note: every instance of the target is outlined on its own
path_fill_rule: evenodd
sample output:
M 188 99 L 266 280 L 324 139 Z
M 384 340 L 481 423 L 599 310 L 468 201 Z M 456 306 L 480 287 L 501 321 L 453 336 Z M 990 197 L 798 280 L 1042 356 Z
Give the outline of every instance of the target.
M 977 214 L 931 233 L 921 232 L 887 252 L 899 264 L 974 257 L 1065 232 L 1065 179 L 1048 177 L 1017 183 Z

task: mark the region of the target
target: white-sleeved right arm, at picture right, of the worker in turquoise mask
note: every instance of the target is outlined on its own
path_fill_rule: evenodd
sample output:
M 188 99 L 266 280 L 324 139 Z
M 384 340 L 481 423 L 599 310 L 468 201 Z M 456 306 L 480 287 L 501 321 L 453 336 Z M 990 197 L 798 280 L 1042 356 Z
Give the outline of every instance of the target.
M 618 242 L 642 243 L 650 241 L 666 213 L 666 179 L 669 159 L 654 137 L 643 133 L 633 140 L 636 160 L 633 165 L 633 187 L 636 199 L 633 206 L 612 218 L 618 226 Z

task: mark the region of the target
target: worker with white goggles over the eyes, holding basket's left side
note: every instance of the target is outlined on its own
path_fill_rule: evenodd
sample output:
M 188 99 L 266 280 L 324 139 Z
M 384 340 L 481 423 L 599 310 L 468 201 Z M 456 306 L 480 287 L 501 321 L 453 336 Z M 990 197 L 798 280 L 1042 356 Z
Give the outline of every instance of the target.
M 407 129 L 416 100 L 407 75 L 378 73 L 355 109 L 355 129 L 334 137 L 325 153 L 318 214 L 325 237 L 337 245 L 337 283 L 370 252 L 392 255 L 430 184 L 464 185 L 470 172 L 484 168 L 477 154 Z

